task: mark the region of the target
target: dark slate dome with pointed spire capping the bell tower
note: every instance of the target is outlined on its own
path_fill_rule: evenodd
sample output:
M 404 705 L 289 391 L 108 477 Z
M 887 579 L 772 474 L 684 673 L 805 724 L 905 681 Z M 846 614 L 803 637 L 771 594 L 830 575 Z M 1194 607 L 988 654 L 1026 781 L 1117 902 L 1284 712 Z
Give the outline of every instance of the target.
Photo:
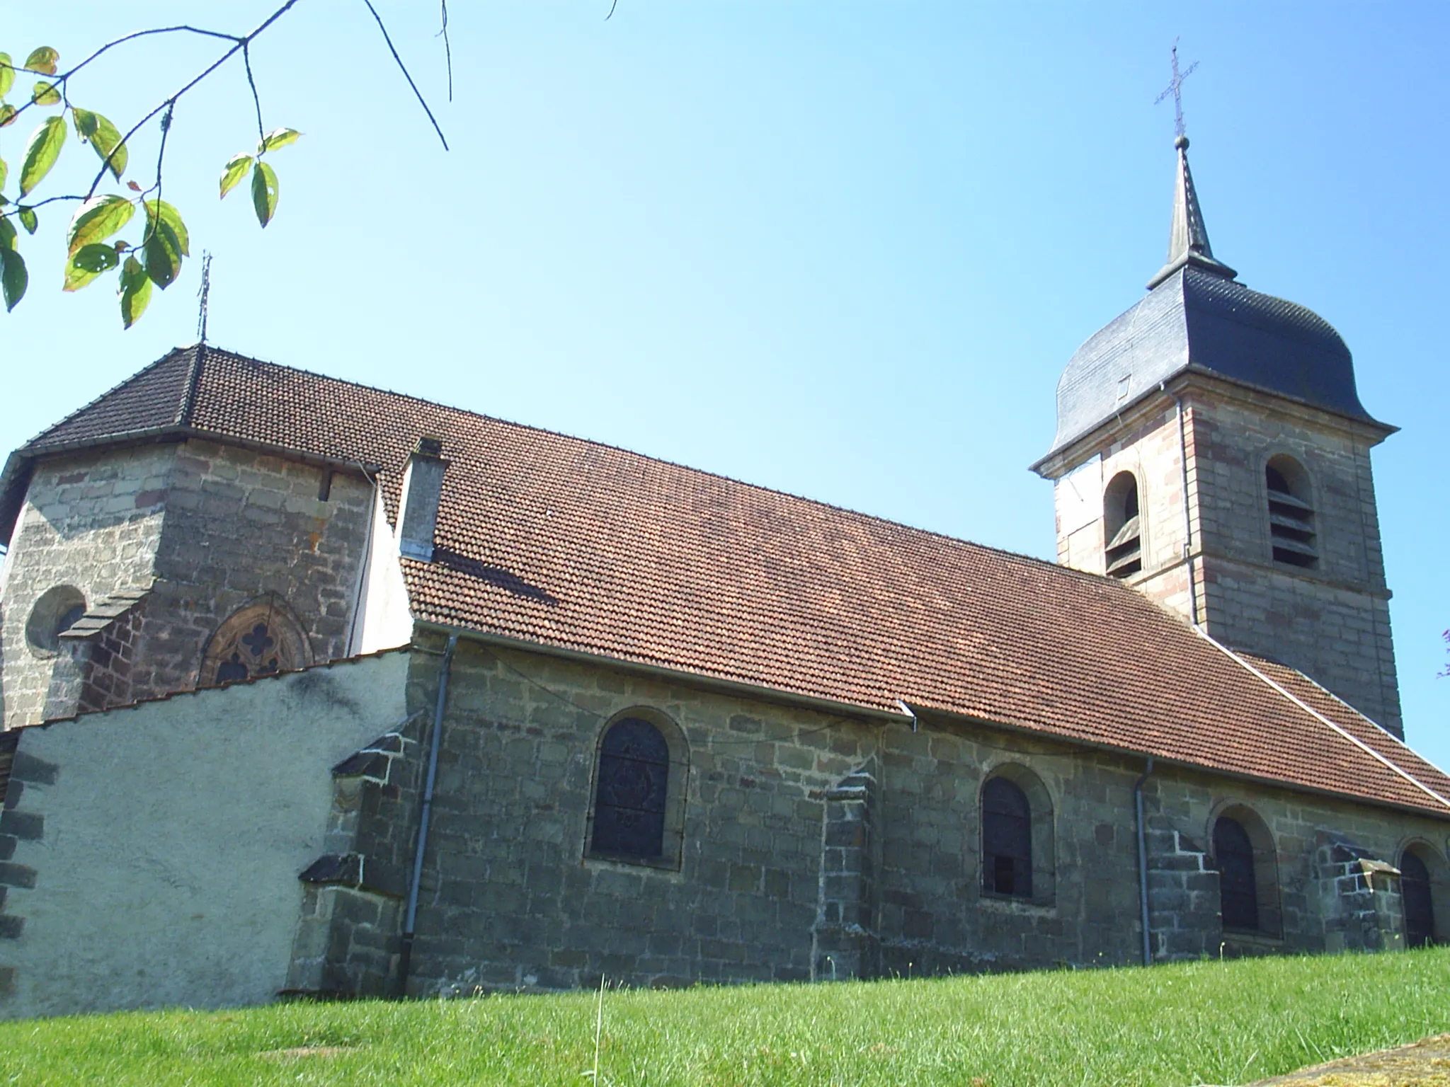
M 1330 323 L 1304 306 L 1248 290 L 1214 258 L 1188 167 L 1188 138 L 1179 136 L 1174 146 L 1167 264 L 1146 299 L 1069 361 L 1057 383 L 1051 452 L 1189 370 L 1373 422 L 1354 390 L 1350 349 Z

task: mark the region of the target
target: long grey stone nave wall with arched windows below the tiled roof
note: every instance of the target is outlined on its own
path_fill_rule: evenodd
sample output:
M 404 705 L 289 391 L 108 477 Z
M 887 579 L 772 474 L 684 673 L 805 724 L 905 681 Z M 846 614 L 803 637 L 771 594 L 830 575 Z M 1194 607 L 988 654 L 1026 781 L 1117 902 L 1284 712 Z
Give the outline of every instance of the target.
M 441 645 L 413 657 L 413 713 L 432 710 Z M 589 857 L 596 751 L 625 710 L 661 713 L 687 739 L 679 867 Z M 444 728 L 412 994 L 587 987 L 600 973 L 660 986 L 1141 961 L 1135 759 L 945 719 L 912 732 L 467 642 Z M 425 752 L 407 775 L 394 764 L 392 797 L 364 803 L 364 864 L 410 862 Z M 1027 900 L 983 890 L 980 790 L 995 774 L 1034 804 Z M 1444 823 L 1183 770 L 1150 775 L 1146 807 L 1159 959 L 1393 946 L 1398 906 L 1366 906 L 1343 871 L 1327 875 L 1325 838 L 1386 865 L 1411 838 L 1443 858 Z M 1270 835 L 1263 932 L 1219 922 L 1211 842 L 1225 810 Z M 1437 900 L 1450 903 L 1438 864 Z M 365 930 L 378 909 L 367 906 Z M 1348 929 L 1362 935 L 1333 935 Z M 1373 944 L 1370 930 L 1386 935 Z M 370 941 L 360 955 L 376 961 Z M 397 944 L 386 951 L 396 964 Z

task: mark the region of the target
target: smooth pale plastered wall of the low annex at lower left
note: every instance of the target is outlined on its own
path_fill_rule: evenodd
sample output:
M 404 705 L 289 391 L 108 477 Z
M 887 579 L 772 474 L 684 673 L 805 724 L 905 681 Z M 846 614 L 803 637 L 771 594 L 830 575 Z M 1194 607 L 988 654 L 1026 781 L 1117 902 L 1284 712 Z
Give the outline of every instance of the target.
M 20 729 L 0 1017 L 276 999 L 339 759 L 402 722 L 406 652 Z

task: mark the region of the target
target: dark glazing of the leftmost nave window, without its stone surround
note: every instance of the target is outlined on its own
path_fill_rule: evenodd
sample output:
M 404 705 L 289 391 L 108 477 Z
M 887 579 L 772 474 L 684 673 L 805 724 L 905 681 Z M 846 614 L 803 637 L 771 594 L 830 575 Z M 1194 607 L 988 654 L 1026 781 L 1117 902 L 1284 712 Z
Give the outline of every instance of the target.
M 670 746 L 660 729 L 641 717 L 609 726 L 599 746 L 594 786 L 596 855 L 664 857 L 670 787 Z

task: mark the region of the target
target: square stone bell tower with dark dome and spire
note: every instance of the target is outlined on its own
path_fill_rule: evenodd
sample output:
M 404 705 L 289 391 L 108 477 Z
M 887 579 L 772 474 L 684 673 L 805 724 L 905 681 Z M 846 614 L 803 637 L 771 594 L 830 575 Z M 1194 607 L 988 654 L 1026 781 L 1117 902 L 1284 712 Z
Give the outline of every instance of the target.
M 1169 258 L 1057 384 L 1057 559 L 1402 735 L 1370 449 L 1340 335 L 1214 257 L 1179 135 Z

